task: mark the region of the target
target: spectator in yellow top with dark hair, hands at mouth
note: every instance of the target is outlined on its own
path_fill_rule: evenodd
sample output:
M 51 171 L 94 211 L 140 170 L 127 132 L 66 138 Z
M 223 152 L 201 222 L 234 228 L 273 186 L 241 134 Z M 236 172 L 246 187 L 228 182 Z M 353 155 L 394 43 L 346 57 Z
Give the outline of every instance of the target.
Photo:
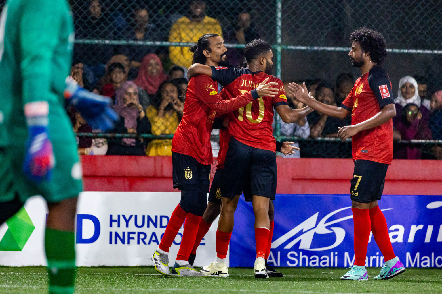
M 163 82 L 160 85 L 156 99 L 146 109 L 146 116 L 152 125 L 152 134 L 175 134 L 184 110 L 184 101 L 180 100 L 180 97 L 181 89 L 175 82 Z M 172 140 L 153 140 L 147 146 L 146 155 L 172 156 Z

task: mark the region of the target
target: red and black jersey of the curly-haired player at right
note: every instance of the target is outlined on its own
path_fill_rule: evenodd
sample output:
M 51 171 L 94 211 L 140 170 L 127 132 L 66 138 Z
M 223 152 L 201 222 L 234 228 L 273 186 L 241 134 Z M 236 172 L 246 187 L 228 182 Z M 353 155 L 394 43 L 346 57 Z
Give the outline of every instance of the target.
M 382 67 L 375 65 L 354 82 L 353 89 L 342 103 L 342 107 L 351 111 L 351 124 L 355 125 L 372 118 L 390 103 L 394 104 L 390 78 Z M 392 119 L 380 126 L 363 130 L 351 139 L 353 160 L 364 159 L 391 164 Z

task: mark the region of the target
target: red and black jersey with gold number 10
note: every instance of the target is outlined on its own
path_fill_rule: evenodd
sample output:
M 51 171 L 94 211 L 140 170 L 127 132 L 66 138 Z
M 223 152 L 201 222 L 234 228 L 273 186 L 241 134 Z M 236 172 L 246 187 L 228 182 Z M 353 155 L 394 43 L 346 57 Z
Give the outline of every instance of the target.
M 252 72 L 248 68 L 212 67 L 212 78 L 220 82 L 226 99 L 232 99 L 255 89 L 260 82 L 270 77 L 268 82 L 277 82 L 278 94 L 275 97 L 259 97 L 229 113 L 229 133 L 236 140 L 251 147 L 275 152 L 276 141 L 273 137 L 273 108 L 287 104 L 286 92 L 282 81 L 262 71 Z

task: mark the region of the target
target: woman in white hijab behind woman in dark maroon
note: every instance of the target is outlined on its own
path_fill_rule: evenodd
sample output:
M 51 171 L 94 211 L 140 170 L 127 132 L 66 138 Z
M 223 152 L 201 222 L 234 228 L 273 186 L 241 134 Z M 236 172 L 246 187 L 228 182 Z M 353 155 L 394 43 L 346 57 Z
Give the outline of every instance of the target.
M 422 113 L 423 120 L 428 122 L 429 110 L 422 105 L 417 82 L 411 75 L 406 75 L 399 80 L 399 89 L 397 90 L 397 97 L 394 103 L 397 115 L 393 118 L 393 123 L 399 121 L 402 108 L 408 103 L 416 104 Z

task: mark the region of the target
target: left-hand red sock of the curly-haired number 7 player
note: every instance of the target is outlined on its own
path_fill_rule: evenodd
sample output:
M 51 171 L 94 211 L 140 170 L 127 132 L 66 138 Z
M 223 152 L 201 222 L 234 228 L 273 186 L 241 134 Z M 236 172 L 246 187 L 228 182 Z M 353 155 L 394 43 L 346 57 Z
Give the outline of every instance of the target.
M 370 238 L 370 209 L 351 208 L 354 229 L 354 265 L 365 265 Z

